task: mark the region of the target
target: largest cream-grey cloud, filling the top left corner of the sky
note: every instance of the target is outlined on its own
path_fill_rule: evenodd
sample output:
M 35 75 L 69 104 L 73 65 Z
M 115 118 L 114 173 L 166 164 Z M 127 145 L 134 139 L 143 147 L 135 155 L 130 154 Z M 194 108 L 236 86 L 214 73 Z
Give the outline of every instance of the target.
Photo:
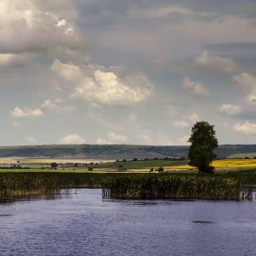
M 86 45 L 76 27 L 76 6 L 63 8 L 64 1 L 55 4 L 37 0 L 0 2 L 0 52 L 24 53 L 52 50 L 83 49 Z M 69 1 L 70 2 L 70 1 Z

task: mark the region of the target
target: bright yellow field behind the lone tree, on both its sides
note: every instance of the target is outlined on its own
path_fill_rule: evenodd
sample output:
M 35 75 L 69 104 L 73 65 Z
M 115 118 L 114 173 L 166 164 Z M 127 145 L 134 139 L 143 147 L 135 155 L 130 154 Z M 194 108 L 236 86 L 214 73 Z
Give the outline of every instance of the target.
M 215 168 L 253 168 L 256 167 L 256 159 L 222 159 L 215 160 L 212 164 Z M 165 169 L 195 169 L 190 165 L 168 165 Z

